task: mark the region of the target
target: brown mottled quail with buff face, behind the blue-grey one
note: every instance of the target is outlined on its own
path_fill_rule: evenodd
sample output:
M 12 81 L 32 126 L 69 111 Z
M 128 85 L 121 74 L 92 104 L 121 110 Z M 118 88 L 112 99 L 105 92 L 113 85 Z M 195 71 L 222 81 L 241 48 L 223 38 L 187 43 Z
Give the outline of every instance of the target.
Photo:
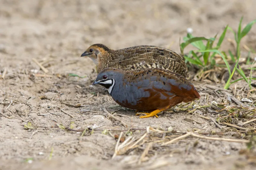
M 141 70 L 161 68 L 188 77 L 188 68 L 181 55 L 156 46 L 134 46 L 112 50 L 103 44 L 91 45 L 81 57 L 89 57 L 96 64 L 97 73 L 106 68 Z

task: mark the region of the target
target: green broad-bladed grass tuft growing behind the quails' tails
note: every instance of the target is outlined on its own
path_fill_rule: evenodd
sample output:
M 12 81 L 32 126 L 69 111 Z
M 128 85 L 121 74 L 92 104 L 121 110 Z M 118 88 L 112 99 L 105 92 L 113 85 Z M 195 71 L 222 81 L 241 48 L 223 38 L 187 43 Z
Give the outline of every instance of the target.
M 201 72 L 201 73 L 207 70 L 214 69 L 216 67 L 223 67 L 223 65 L 220 65 L 215 61 L 216 55 L 219 55 L 222 57 L 222 60 L 225 63 L 224 67 L 228 70 L 228 73 L 229 73 L 229 78 L 226 81 L 226 84 L 224 85 L 224 89 L 228 89 L 231 84 L 240 80 L 245 80 L 249 88 L 252 89 L 251 81 L 256 80 L 256 78 L 252 78 L 252 70 L 256 70 L 256 68 L 252 68 L 252 67 L 248 68 L 250 70 L 250 75 L 247 78 L 244 70 L 242 70 L 242 68 L 238 64 L 239 58 L 240 58 L 240 52 L 241 52 L 240 42 L 242 38 L 249 33 L 252 26 L 256 23 L 256 20 L 249 22 L 244 29 L 242 29 L 242 21 L 243 21 L 243 17 L 239 22 L 237 32 L 235 32 L 231 27 L 227 25 L 223 30 L 221 36 L 219 37 L 219 40 L 216 46 L 213 46 L 213 44 L 217 38 L 217 35 L 215 35 L 213 38 L 207 39 L 205 37 L 193 37 L 192 34 L 190 33 L 188 33 L 187 36 L 183 38 L 184 42 L 180 44 L 181 55 L 184 56 L 185 62 L 190 63 L 191 65 L 197 66 L 199 68 L 198 72 Z M 235 37 L 235 43 L 236 43 L 235 55 L 231 52 L 231 50 L 228 50 L 229 56 L 227 56 L 227 54 L 224 51 L 220 50 L 223 40 L 225 39 L 227 30 L 232 31 Z M 197 50 L 190 50 L 188 54 L 184 55 L 184 49 L 189 44 L 194 46 Z M 249 51 L 248 53 L 246 64 L 252 63 L 250 62 L 250 55 L 252 51 L 253 50 Z M 231 64 L 235 64 L 233 70 L 231 70 L 231 66 L 230 66 Z M 235 72 L 237 72 L 242 78 L 231 81 Z

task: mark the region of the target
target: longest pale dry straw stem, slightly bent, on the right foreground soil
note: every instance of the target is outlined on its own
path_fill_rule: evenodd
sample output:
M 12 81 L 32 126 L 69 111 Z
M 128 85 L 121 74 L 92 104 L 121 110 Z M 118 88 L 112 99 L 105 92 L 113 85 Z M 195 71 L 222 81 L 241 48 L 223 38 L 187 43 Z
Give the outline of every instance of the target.
M 180 140 L 180 139 L 184 139 L 184 138 L 189 137 L 189 136 L 193 136 L 193 137 L 200 138 L 200 139 L 205 139 L 205 140 L 220 140 L 220 141 L 229 141 L 229 142 L 238 142 L 238 143 L 248 143 L 248 142 L 250 142 L 249 140 L 239 140 L 239 139 L 237 140 L 237 139 L 228 139 L 228 138 L 207 137 L 207 136 L 198 135 L 198 134 L 195 134 L 195 133 L 192 133 L 192 132 L 188 132 L 184 135 L 181 135 L 177 138 L 174 138 L 173 140 L 170 140 L 166 143 L 163 143 L 162 146 L 163 145 L 168 145 L 170 143 L 173 143 L 173 142 L 175 142 L 177 140 Z

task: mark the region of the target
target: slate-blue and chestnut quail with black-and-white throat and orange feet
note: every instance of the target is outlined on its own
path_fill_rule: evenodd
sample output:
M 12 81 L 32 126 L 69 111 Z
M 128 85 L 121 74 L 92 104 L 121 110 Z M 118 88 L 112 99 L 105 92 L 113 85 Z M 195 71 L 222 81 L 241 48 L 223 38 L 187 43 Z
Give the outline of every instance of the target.
M 140 118 L 158 118 L 161 111 L 201 97 L 184 76 L 159 68 L 130 71 L 107 68 L 97 75 L 92 85 L 96 84 L 104 86 L 119 105 L 146 114 Z

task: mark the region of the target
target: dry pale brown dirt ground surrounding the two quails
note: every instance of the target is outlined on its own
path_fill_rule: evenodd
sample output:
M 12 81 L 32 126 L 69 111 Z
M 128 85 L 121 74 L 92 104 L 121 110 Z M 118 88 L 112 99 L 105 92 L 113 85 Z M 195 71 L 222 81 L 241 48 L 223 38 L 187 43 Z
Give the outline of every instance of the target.
M 80 58 L 94 43 L 112 49 L 155 45 L 180 52 L 179 40 L 187 28 L 193 29 L 194 36 L 207 38 L 220 34 L 227 24 L 236 30 L 242 16 L 243 23 L 256 19 L 255 7 L 256 0 L 0 0 L 0 76 L 7 70 L 0 79 L 0 170 L 255 169 L 252 159 L 239 154 L 247 148 L 245 143 L 193 137 L 166 146 L 160 142 L 186 131 L 242 139 L 242 128 L 255 128 L 253 122 L 241 129 L 221 124 L 220 129 L 212 120 L 202 118 L 216 119 L 220 113 L 213 111 L 214 107 L 198 109 L 195 114 L 171 110 L 158 119 L 139 119 L 134 110 L 115 107 L 102 87 L 91 86 L 97 75 L 95 65 L 88 58 Z M 234 50 L 227 40 L 234 40 L 233 34 L 226 36 L 222 50 Z M 256 50 L 256 27 L 241 45 Z M 192 47 L 186 52 L 189 49 Z M 244 48 L 242 51 L 246 52 Z M 50 77 L 40 77 L 44 71 L 33 59 L 49 70 L 46 75 Z M 70 73 L 85 77 L 67 76 Z M 224 84 L 210 80 L 192 83 L 202 96 L 194 104 L 211 105 L 213 100 L 231 107 L 239 104 L 222 90 L 211 89 Z M 234 88 L 225 92 L 234 95 Z M 255 100 L 255 94 L 247 96 L 245 82 L 236 88 L 240 90 L 235 96 L 238 100 Z M 116 111 L 114 116 L 127 128 L 108 118 L 104 108 L 110 113 Z M 63 130 L 58 125 L 97 129 L 82 136 L 82 132 Z M 149 130 L 134 149 L 111 159 L 117 143 L 113 136 L 120 131 L 111 131 L 111 135 L 103 130 L 141 129 L 126 134 L 127 139 L 128 135 L 138 139 L 149 126 L 172 131 Z

